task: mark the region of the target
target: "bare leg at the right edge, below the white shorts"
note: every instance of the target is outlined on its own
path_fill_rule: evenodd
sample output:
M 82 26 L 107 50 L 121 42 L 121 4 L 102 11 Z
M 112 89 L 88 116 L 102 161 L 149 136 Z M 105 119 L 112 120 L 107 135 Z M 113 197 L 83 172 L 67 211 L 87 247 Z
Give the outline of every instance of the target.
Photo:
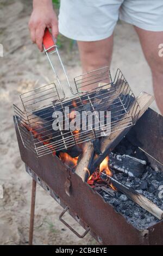
M 163 115 L 163 57 L 159 57 L 159 44 L 163 42 L 163 32 L 145 31 L 135 27 L 143 53 L 151 68 L 156 103 Z

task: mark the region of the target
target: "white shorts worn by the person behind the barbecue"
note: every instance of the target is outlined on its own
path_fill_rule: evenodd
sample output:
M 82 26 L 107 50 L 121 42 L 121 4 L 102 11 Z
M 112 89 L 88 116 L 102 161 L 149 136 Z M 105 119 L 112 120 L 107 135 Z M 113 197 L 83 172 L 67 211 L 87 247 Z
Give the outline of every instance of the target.
M 61 0 L 59 32 L 79 41 L 108 38 L 118 17 L 147 31 L 163 31 L 163 0 Z

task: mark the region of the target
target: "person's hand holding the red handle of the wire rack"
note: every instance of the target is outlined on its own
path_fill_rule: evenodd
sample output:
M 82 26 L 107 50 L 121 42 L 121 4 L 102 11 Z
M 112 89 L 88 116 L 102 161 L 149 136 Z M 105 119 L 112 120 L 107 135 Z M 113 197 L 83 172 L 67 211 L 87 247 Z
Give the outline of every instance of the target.
M 42 52 L 42 38 L 45 28 L 51 28 L 54 38 L 58 36 L 58 19 L 54 12 L 52 0 L 33 0 L 33 12 L 29 20 L 31 40 Z

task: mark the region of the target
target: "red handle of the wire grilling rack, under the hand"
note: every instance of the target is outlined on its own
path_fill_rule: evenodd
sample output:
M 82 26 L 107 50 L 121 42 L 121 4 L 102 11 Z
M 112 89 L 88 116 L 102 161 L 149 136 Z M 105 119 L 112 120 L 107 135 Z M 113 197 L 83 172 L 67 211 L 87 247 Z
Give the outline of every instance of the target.
M 55 50 L 55 41 L 53 40 L 53 36 L 51 32 L 49 32 L 48 28 L 45 29 L 45 33 L 43 35 L 43 46 L 47 52 Z

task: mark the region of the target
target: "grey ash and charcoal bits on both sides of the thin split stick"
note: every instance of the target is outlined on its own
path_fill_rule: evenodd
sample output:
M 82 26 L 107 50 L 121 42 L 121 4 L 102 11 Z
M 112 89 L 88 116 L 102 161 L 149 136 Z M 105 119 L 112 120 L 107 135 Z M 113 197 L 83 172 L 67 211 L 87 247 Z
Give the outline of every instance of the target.
M 143 196 L 163 210 L 163 200 L 158 196 L 158 187 L 159 185 L 163 185 L 163 172 L 155 172 L 155 170 L 149 166 L 146 170 L 142 178 L 126 177 L 124 173 L 116 173 L 114 174 L 114 178 L 120 180 L 127 186 L 133 187 L 135 191 L 143 194 Z M 140 187 L 144 181 L 147 182 L 147 188 L 142 190 Z M 135 188 L 135 186 L 137 187 Z M 148 191 L 151 186 L 153 186 L 153 192 Z M 106 202 L 109 202 L 109 204 L 115 208 L 115 211 L 122 214 L 129 223 L 139 230 L 146 229 L 159 222 L 158 218 L 141 208 L 141 206 L 135 204 L 121 192 L 116 192 L 113 197 L 106 194 L 104 191 L 101 191 L 100 194 Z

